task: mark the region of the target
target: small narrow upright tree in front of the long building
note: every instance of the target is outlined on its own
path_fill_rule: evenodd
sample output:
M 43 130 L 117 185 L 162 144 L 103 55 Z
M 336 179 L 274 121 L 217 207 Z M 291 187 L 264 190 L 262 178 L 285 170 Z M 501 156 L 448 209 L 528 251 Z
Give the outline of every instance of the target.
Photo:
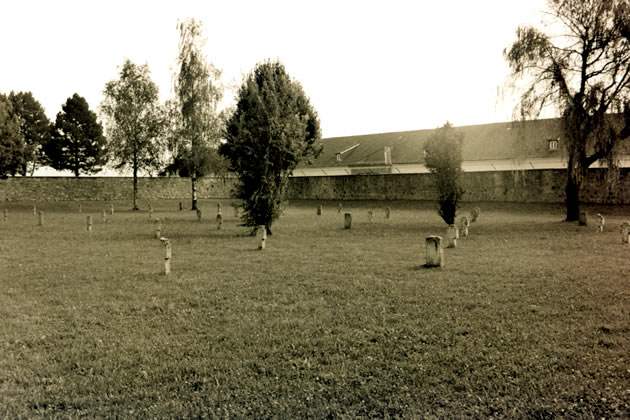
M 425 166 L 434 174 L 438 190 L 438 214 L 449 225 L 455 223 L 459 201 L 464 195 L 461 133 L 447 122 L 429 137 L 425 144 Z

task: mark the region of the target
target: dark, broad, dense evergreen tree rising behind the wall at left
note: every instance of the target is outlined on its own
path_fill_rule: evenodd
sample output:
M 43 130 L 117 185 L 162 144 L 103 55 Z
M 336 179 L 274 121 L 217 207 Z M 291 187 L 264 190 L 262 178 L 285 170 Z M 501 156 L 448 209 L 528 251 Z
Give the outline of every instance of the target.
M 53 168 L 69 169 L 74 176 L 79 176 L 102 169 L 107 162 L 106 145 L 96 114 L 90 111 L 85 98 L 75 93 L 57 114 L 52 138 L 44 152 Z

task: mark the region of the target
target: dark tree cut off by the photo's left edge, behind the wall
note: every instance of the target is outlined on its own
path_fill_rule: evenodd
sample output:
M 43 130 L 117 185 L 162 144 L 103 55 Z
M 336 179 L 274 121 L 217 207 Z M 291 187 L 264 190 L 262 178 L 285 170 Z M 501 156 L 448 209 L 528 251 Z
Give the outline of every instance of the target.
M 24 137 L 20 124 L 12 101 L 0 94 L 0 177 L 17 174 L 24 164 Z

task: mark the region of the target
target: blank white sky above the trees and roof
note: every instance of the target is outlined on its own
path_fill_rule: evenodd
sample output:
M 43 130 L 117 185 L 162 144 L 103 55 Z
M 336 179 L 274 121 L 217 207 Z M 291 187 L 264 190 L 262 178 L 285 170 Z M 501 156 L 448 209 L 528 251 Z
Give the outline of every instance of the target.
M 544 0 L 20 0 L 0 8 L 0 92 L 31 91 L 54 119 L 75 92 L 92 110 L 125 58 L 171 96 L 178 19 L 204 23 L 226 83 L 280 59 L 324 137 L 509 121 L 503 49 Z M 233 92 L 226 92 L 228 98 Z

